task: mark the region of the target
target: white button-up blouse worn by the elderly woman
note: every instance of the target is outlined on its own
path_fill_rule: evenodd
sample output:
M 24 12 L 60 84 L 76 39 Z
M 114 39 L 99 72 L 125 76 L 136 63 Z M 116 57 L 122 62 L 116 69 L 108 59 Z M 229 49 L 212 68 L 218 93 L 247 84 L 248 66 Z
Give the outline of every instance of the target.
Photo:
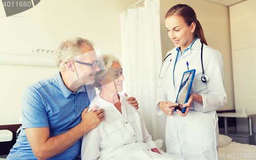
M 151 149 L 156 148 L 138 110 L 126 101 L 128 97 L 119 96 L 122 114 L 113 103 L 105 101 L 99 94 L 91 102 L 89 111 L 98 105 L 99 109 L 104 109 L 105 119 L 83 136 L 82 159 L 97 159 L 118 147 L 136 142 L 144 142 Z

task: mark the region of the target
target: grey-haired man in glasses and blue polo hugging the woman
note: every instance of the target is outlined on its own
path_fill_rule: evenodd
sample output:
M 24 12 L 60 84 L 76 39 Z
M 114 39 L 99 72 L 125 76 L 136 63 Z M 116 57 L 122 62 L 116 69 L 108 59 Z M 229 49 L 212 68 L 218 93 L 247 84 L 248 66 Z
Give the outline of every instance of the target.
M 97 56 L 90 41 L 69 39 L 56 50 L 55 76 L 29 86 L 23 95 L 23 124 L 7 159 L 77 159 L 80 138 L 104 119 L 102 109 L 88 111 L 95 89 Z M 135 98 L 127 99 L 133 106 Z

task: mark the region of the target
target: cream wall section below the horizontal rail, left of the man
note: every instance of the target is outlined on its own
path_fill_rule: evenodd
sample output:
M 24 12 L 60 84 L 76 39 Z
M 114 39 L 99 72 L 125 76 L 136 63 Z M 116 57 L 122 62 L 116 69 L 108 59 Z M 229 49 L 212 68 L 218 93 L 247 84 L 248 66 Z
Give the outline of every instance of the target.
M 51 77 L 57 73 L 57 67 L 34 67 L 0 65 L 1 103 L 0 125 L 18 124 L 22 116 L 20 104 L 26 87 L 32 83 Z

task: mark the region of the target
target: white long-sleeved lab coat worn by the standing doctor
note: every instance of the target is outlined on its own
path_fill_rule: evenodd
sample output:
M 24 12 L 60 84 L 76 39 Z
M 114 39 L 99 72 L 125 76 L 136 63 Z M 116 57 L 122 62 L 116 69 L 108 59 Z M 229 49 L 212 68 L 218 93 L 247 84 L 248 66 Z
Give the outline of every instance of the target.
M 204 73 L 209 77 L 207 83 L 201 81 L 201 42 L 196 40 L 184 55 L 177 61 L 176 47 L 167 52 L 172 61 L 164 78 L 158 79 L 156 113 L 163 112 L 159 108 L 160 101 L 175 102 L 184 71 L 196 69 L 190 93 L 200 94 L 203 105 L 195 102 L 187 116 L 174 113 L 167 116 L 165 142 L 167 153 L 182 155 L 185 159 L 219 159 L 218 141 L 219 127 L 216 110 L 227 101 L 224 89 L 224 64 L 219 51 L 203 44 Z M 168 61 L 168 62 L 167 62 Z M 166 59 L 165 63 L 169 63 Z

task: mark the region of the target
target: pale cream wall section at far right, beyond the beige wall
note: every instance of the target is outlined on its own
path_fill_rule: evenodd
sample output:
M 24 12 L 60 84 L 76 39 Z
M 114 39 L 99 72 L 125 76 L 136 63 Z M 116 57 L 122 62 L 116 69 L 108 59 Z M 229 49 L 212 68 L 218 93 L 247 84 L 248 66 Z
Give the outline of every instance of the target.
M 256 113 L 255 108 L 255 68 L 256 68 L 256 1 L 247 0 L 230 7 L 230 28 L 234 77 L 234 98 L 236 111 Z M 237 118 L 237 130 L 247 131 L 246 118 Z M 253 118 L 253 124 L 256 118 Z M 253 125 L 254 126 L 254 125 Z M 255 131 L 255 126 L 253 127 Z

